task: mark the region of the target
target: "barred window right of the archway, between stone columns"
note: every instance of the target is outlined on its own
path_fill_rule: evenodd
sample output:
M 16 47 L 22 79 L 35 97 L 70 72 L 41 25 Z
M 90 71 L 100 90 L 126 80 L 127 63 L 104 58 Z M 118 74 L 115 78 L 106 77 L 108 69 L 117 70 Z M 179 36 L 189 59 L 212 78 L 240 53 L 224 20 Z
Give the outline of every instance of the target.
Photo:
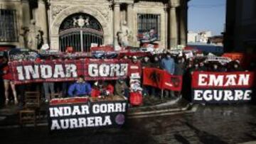
M 138 39 L 160 40 L 160 14 L 138 14 Z

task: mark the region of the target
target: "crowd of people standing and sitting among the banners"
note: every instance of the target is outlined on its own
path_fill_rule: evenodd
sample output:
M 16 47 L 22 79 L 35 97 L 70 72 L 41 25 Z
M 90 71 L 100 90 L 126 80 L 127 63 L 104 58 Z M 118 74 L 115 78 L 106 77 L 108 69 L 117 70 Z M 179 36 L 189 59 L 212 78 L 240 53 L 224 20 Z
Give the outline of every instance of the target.
M 54 60 L 55 57 L 44 57 L 41 60 Z M 183 75 L 183 77 L 190 77 L 194 71 L 210 71 L 210 72 L 236 72 L 243 71 L 240 66 L 239 60 L 233 60 L 231 62 L 218 62 L 208 61 L 207 57 L 186 57 L 186 55 L 173 54 L 169 51 L 148 55 L 145 57 L 127 56 L 124 55 L 122 59 L 130 59 L 132 62 L 140 62 L 141 69 L 144 67 L 155 67 L 161 70 L 166 70 L 169 74 Z M 6 55 L 0 55 L 0 74 L 1 81 L 4 83 L 4 97 L 5 104 L 10 104 L 11 100 L 14 104 L 24 104 L 24 92 L 26 90 L 34 90 L 41 92 L 42 100 L 45 102 L 50 101 L 52 94 L 60 94 L 61 97 L 68 96 L 110 96 L 119 95 L 129 97 L 131 91 L 129 78 L 118 79 L 112 81 L 96 81 L 86 82 L 84 77 L 80 75 L 76 82 L 43 82 L 32 84 L 18 84 L 15 85 L 11 73 L 9 72 L 8 57 Z M 142 81 L 143 79 L 141 79 Z M 187 80 L 187 79 L 184 79 Z M 186 82 L 183 82 L 183 85 Z M 11 87 L 11 89 L 10 89 Z M 17 92 L 16 92 L 17 90 Z M 10 93 L 12 92 L 13 99 L 10 99 Z M 164 98 L 176 98 L 181 95 L 181 92 L 171 92 L 164 90 L 164 97 L 161 97 L 161 89 L 156 87 L 150 87 L 142 84 L 142 95 L 151 96 L 154 99 Z

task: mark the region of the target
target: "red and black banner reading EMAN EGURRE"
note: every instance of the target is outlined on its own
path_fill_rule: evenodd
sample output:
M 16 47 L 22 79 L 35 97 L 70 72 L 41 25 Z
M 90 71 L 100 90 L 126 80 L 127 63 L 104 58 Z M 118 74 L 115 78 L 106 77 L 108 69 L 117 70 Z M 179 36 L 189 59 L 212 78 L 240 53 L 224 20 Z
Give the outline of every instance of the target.
M 193 72 L 191 88 L 195 103 L 250 101 L 253 72 Z

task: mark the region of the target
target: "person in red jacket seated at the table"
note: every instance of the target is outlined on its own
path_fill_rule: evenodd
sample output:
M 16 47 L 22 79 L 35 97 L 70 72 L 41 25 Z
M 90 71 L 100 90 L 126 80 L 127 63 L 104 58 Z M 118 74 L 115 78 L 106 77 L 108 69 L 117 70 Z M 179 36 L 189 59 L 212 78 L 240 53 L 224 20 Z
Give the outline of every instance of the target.
M 114 87 L 112 84 L 104 84 L 102 81 L 95 82 L 94 87 L 92 88 L 91 96 L 110 96 L 114 93 Z

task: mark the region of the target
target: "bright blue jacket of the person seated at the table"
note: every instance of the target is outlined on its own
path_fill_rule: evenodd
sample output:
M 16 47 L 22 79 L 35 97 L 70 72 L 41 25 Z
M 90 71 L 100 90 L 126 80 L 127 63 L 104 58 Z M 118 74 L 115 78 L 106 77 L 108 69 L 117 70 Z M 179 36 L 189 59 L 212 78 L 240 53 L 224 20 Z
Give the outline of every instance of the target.
M 90 95 L 92 88 L 89 83 L 83 82 L 75 82 L 74 84 L 70 85 L 68 88 L 68 95 L 69 96 L 85 96 Z

